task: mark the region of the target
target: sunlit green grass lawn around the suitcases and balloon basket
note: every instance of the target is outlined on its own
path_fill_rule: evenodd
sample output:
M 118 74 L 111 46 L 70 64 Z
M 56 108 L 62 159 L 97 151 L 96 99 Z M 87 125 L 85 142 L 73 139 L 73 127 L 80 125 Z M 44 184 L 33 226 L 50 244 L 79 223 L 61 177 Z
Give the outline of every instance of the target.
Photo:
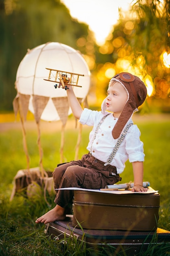
M 141 140 L 144 142 L 145 162 L 144 181 L 149 181 L 153 189 L 160 193 L 160 210 L 158 226 L 170 231 L 170 120 L 148 121 L 139 123 Z M 91 128 L 84 128 L 79 148 L 79 157 L 86 153 L 88 135 Z M 60 162 L 60 132 L 43 132 L 41 135 L 44 152 L 43 165 L 46 170 L 53 169 Z M 37 132 L 29 130 L 26 135 L 30 155 L 30 167 L 39 165 Z M 77 130 L 65 131 L 64 162 L 75 157 Z M 109 246 L 95 249 L 86 248 L 85 244 L 56 241 L 44 235 L 44 225 L 35 224 L 35 219 L 54 206 L 53 198 L 48 196 L 51 208 L 43 197 L 28 200 L 25 195 L 15 196 L 12 202 L 9 198 L 12 190 L 13 177 L 18 170 L 26 168 L 26 157 L 22 146 L 22 132 L 13 130 L 0 133 L 0 255 L 45 256 L 45 255 L 114 255 L 114 249 Z M 121 182 L 133 180 L 132 166 L 126 163 L 126 169 L 121 175 Z M 102 252 L 101 252 L 102 251 Z M 116 255 L 126 255 L 119 251 Z M 140 255 L 140 254 L 139 254 Z M 170 245 L 157 245 L 142 252 L 141 255 L 170 255 Z

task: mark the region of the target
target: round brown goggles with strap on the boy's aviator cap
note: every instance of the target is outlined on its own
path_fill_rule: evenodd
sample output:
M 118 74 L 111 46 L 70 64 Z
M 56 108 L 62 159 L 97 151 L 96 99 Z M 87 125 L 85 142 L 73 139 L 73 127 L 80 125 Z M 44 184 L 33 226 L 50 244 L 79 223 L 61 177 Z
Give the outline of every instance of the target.
M 133 81 L 135 80 L 135 76 L 133 76 L 132 74 L 127 73 L 127 72 L 122 72 L 120 74 L 117 74 L 117 75 L 113 76 L 113 78 L 116 78 L 117 76 L 119 76 L 119 79 L 121 79 L 121 81 L 129 83 L 130 88 L 131 88 L 132 93 L 133 93 L 133 96 L 135 97 L 135 101 L 137 103 L 137 106 L 140 106 L 140 103 L 139 103 L 139 100 L 138 100 L 138 97 L 137 97 L 137 93 L 135 91 L 135 87 L 134 87 L 134 84 L 133 84 Z

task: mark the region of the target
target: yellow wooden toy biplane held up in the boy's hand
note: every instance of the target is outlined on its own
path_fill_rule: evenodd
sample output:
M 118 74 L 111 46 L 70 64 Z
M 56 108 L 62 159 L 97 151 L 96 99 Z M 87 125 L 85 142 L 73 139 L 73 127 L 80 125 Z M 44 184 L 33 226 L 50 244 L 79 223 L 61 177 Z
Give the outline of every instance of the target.
M 46 70 L 49 70 L 49 78 L 44 80 L 58 83 L 58 85 L 54 85 L 55 88 L 60 88 L 62 86 L 62 89 L 67 90 L 68 85 L 82 87 L 81 85 L 78 85 L 79 76 L 84 76 L 82 74 L 66 72 L 62 70 L 53 70 L 47 67 Z

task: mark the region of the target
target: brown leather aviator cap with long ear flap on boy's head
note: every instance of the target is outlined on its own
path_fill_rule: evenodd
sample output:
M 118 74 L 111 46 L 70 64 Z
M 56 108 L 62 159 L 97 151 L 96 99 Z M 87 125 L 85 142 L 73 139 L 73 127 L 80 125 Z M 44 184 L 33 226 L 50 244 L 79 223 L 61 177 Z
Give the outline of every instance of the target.
M 112 131 L 113 138 L 117 139 L 132 116 L 134 110 L 144 103 L 147 96 L 147 89 L 144 82 L 141 81 L 138 76 L 134 76 L 126 72 L 115 75 L 110 82 L 111 81 L 121 83 L 121 85 L 125 87 L 127 94 L 129 94 L 124 109 Z

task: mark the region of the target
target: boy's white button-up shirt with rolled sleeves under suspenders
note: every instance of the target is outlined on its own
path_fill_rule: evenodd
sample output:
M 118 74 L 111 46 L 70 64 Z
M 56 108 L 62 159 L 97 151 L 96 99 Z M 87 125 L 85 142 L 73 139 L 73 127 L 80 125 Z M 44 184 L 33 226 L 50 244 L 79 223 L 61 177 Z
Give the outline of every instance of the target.
M 102 162 L 107 162 L 117 139 L 112 136 L 112 130 L 118 120 L 113 114 L 108 112 L 102 114 L 101 111 L 94 111 L 84 108 L 82 115 L 79 119 L 81 124 L 93 126 L 93 130 L 89 135 L 89 143 L 87 150 L 91 152 L 93 157 L 99 159 Z M 104 122 L 100 125 L 99 130 L 93 141 L 95 130 L 102 117 L 108 115 Z M 132 122 L 130 118 L 128 123 Z M 127 123 L 127 124 L 128 124 Z M 140 131 L 137 125 L 132 125 L 128 129 L 128 132 L 119 146 L 115 157 L 113 158 L 111 165 L 117 167 L 117 173 L 122 173 L 125 168 L 125 162 L 129 159 L 129 162 L 143 162 L 144 161 L 144 144 L 140 141 Z

